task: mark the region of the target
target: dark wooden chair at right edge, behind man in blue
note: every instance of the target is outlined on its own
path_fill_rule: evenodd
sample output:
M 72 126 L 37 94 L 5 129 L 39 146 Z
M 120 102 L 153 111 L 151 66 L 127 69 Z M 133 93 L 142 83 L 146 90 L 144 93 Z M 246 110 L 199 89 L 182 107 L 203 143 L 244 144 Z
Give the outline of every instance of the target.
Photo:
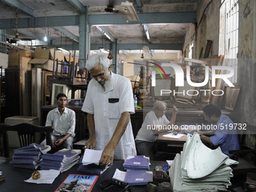
M 248 162 L 248 155 L 255 156 L 256 155 L 256 149 L 248 148 L 245 145 L 245 137 L 247 131 L 251 131 L 251 133 L 256 134 L 256 126 L 249 125 L 248 123 L 245 123 L 245 129 L 242 131 L 242 136 L 239 139 L 239 150 L 229 151 L 230 154 L 234 154 L 238 157 L 239 164 L 233 168 L 233 174 L 234 175 L 242 175 L 246 174 L 247 172 L 256 172 L 256 158 L 251 158 L 252 161 Z

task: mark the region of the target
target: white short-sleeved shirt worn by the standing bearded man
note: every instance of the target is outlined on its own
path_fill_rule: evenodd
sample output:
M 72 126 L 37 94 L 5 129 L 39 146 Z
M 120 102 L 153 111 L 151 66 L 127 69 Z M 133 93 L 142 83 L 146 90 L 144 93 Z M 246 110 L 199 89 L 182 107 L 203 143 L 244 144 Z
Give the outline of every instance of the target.
M 111 73 L 108 90 L 94 79 L 90 81 L 82 111 L 94 114 L 96 150 L 102 150 L 114 134 L 117 123 L 124 111 L 134 113 L 133 90 L 129 79 Z M 114 159 L 126 159 L 136 155 L 133 129 L 129 121 L 123 136 L 114 151 Z

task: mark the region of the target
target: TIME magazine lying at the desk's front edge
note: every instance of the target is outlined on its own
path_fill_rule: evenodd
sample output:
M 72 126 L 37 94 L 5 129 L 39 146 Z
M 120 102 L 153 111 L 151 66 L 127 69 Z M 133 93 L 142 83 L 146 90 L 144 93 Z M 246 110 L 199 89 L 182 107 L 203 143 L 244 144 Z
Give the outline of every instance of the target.
M 69 174 L 69 176 L 62 182 L 62 184 L 59 185 L 59 187 L 54 192 L 90 192 L 93 189 L 93 185 L 96 183 L 98 177 L 98 175 Z

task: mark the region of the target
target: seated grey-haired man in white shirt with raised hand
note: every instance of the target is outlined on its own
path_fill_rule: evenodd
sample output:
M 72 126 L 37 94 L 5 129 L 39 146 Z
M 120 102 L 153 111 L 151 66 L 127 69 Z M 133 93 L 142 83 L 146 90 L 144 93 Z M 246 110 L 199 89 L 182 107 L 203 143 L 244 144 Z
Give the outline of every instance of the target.
M 154 153 L 154 149 L 157 147 L 157 136 L 159 133 L 166 133 L 171 130 L 163 128 L 163 125 L 166 127 L 173 126 L 176 114 L 178 113 L 178 108 L 173 105 L 171 121 L 166 118 L 165 112 L 166 102 L 155 102 L 153 110 L 146 115 L 142 127 L 135 139 L 138 153 L 150 157 L 150 160 L 160 160 L 160 157 L 157 157 Z

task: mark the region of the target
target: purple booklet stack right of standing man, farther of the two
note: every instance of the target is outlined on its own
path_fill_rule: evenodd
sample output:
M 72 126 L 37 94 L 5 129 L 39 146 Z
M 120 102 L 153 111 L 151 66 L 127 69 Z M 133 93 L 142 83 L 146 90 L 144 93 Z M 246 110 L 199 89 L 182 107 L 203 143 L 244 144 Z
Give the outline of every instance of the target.
M 149 157 L 144 155 L 129 156 L 123 163 L 123 168 L 133 170 L 149 170 Z

